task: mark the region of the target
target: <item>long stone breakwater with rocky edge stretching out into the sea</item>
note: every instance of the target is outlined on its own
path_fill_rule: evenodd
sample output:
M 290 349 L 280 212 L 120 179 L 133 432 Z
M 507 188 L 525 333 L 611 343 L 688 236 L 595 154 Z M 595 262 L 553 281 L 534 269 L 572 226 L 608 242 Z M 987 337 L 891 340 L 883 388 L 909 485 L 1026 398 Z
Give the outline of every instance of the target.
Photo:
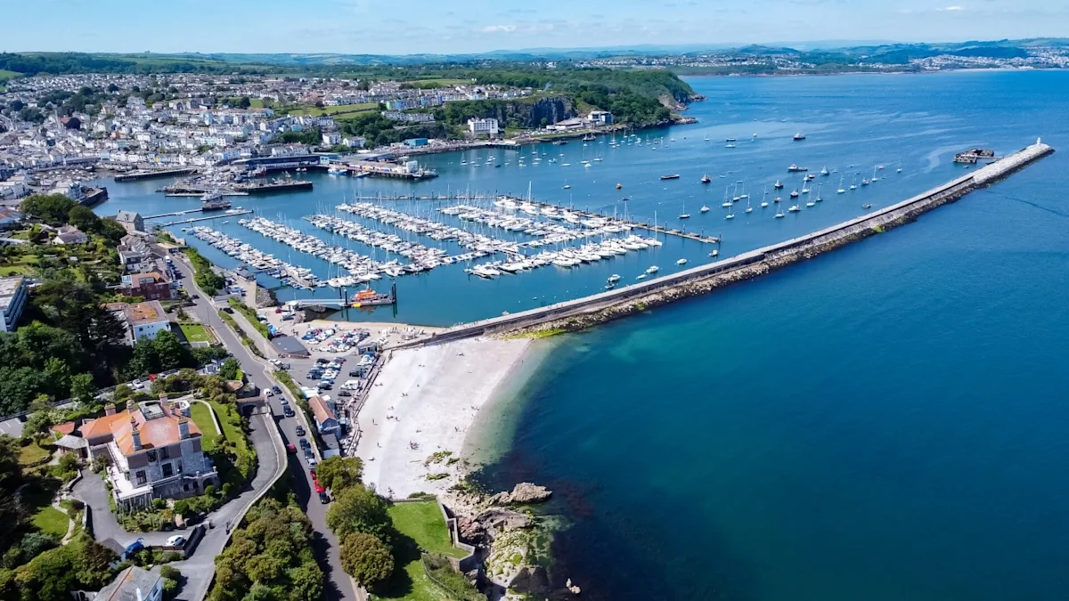
M 1052 152 L 1053 148 L 1037 140 L 1035 144 L 973 173 L 823 230 L 744 252 L 724 261 L 684 269 L 649 282 L 456 325 L 435 333 L 429 338 L 403 342 L 394 348 L 448 342 L 506 332 L 523 334 L 556 329 L 577 330 L 680 298 L 706 294 L 717 288 L 765 275 L 909 224 L 918 216 L 955 202 L 978 187 L 993 184 Z

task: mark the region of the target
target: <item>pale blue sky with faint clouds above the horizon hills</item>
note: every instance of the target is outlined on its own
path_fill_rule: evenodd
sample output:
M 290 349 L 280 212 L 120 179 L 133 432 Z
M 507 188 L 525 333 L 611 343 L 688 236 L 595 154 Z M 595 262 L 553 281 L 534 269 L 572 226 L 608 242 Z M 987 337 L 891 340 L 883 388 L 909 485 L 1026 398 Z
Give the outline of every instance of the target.
M 1066 0 L 0 0 L 0 51 L 463 53 L 1069 35 Z M 536 5 L 537 9 L 531 7 Z

